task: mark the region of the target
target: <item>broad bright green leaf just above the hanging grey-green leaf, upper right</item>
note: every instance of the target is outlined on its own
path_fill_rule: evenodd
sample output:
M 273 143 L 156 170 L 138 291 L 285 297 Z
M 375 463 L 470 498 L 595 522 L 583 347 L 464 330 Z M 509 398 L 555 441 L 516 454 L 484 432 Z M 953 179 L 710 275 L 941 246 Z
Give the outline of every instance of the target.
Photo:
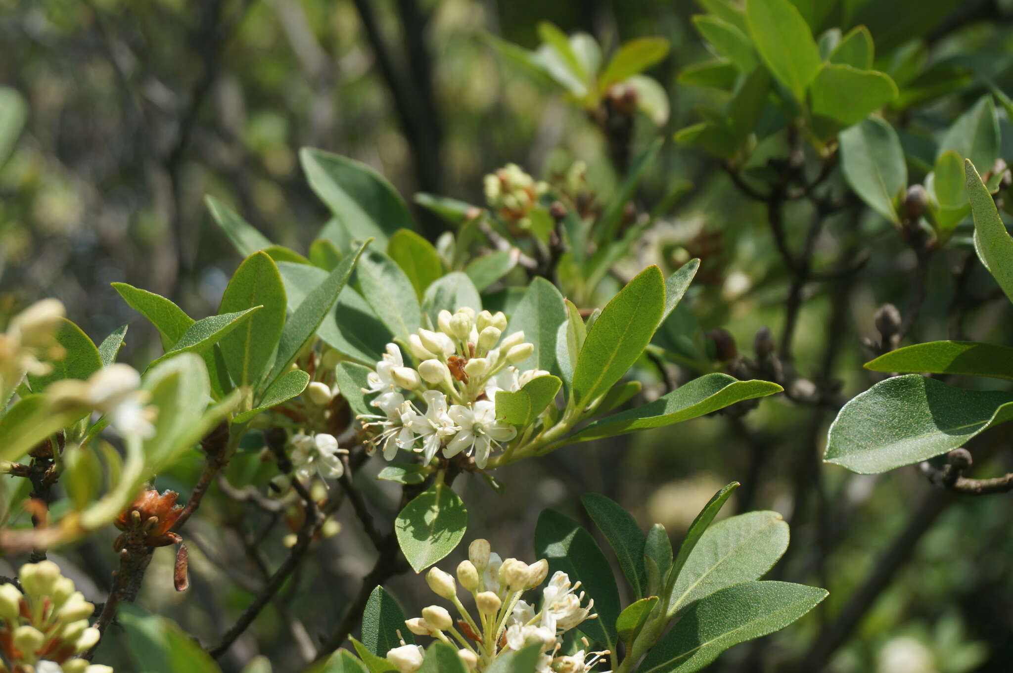
M 885 73 L 828 63 L 812 82 L 811 96 L 813 114 L 848 127 L 892 101 L 898 90 Z

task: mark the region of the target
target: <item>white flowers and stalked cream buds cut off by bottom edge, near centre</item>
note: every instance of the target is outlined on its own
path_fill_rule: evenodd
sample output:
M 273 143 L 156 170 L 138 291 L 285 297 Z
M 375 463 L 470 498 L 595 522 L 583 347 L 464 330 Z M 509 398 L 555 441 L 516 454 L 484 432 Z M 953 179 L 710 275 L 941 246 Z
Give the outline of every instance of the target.
M 454 578 L 434 568 L 425 576 L 430 588 L 451 601 L 461 619 L 455 625 L 446 608 L 431 605 L 422 610 L 421 617 L 408 619 L 405 625 L 412 634 L 460 647 L 458 654 L 469 671 L 486 670 L 504 652 L 539 645 L 542 655 L 538 673 L 588 673 L 609 653 L 580 650 L 571 655 L 559 654 L 565 632 L 598 616 L 591 612 L 594 601 L 581 604 L 583 593 L 577 593 L 580 583 L 571 584 L 566 573 L 556 572 L 542 589 L 540 610 L 521 599 L 524 592 L 545 581 L 548 571 L 545 559 L 530 566 L 517 559 L 501 561 L 491 553 L 487 540 L 476 539 L 468 546 L 468 560 L 457 567 L 457 580 L 474 598 L 478 617 L 473 617 L 461 603 Z M 587 641 L 583 643 L 587 647 Z M 387 653 L 387 660 L 400 673 L 417 671 L 422 657 L 420 647 L 403 642 Z

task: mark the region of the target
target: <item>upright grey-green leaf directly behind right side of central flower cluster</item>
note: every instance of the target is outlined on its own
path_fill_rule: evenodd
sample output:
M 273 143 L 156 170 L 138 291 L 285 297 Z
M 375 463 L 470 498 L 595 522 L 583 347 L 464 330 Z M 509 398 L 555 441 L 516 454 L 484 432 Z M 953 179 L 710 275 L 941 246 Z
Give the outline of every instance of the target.
M 524 331 L 524 340 L 535 346 L 535 352 L 516 366 L 525 369 L 556 370 L 556 333 L 566 320 L 563 297 L 545 278 L 535 278 L 518 304 L 503 336 Z

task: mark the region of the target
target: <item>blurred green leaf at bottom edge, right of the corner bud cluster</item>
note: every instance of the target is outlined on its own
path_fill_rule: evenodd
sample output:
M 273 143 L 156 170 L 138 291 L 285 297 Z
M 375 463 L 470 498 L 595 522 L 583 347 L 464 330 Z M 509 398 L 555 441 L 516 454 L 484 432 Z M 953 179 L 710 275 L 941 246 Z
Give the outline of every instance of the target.
M 218 664 L 175 622 L 124 603 L 116 621 L 127 634 L 136 670 L 145 673 L 221 673 Z

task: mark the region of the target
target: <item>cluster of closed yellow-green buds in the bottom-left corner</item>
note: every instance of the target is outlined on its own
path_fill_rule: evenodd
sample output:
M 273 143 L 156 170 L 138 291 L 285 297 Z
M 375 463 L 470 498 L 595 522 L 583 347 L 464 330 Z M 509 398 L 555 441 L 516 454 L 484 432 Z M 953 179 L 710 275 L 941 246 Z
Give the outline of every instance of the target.
M 108 666 L 76 657 L 98 643 L 88 625 L 95 606 L 52 561 L 21 566 L 21 590 L 0 585 L 0 651 L 4 671 L 18 673 L 112 673 Z M 23 593 L 22 593 L 23 592 Z

